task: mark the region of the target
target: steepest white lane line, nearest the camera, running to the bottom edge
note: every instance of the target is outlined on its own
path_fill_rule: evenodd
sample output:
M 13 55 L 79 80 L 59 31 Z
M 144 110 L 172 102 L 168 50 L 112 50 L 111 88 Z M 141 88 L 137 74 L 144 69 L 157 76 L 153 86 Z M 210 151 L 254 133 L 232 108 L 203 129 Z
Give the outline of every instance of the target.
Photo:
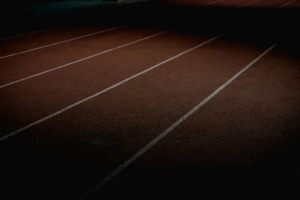
M 197 109 L 199 109 L 202 105 L 204 105 L 208 100 L 210 100 L 213 96 L 215 96 L 218 92 L 220 92 L 225 86 L 227 86 L 230 82 L 232 82 L 237 76 L 242 74 L 245 70 L 247 70 L 250 66 L 252 66 L 257 60 L 259 60 L 263 55 L 265 55 L 268 51 L 270 51 L 272 48 L 274 48 L 276 45 L 273 44 L 271 47 L 269 47 L 267 50 L 265 50 L 263 53 L 261 53 L 258 57 L 256 57 L 254 60 L 252 60 L 249 64 L 247 64 L 244 68 L 242 68 L 239 72 L 237 72 L 234 76 L 232 76 L 230 79 L 228 79 L 224 84 L 222 84 L 219 88 L 214 90 L 209 96 L 207 96 L 204 100 L 202 100 L 199 104 L 197 104 L 195 107 L 193 107 L 191 110 L 189 110 L 186 114 L 184 114 L 181 118 L 179 118 L 176 122 L 174 122 L 172 125 L 170 125 L 167 129 L 165 129 L 162 133 L 160 133 L 157 137 L 155 137 L 152 141 L 150 141 L 147 145 L 145 145 L 143 148 L 141 148 L 137 153 L 135 153 L 132 157 L 127 159 L 123 164 L 118 166 L 116 169 L 114 169 L 109 175 L 107 175 L 105 178 L 103 178 L 100 182 L 98 182 L 92 189 L 87 191 L 81 199 L 84 199 L 88 197 L 90 194 L 94 193 L 96 190 L 98 190 L 101 186 L 103 186 L 105 183 L 107 183 L 109 180 L 111 180 L 116 174 L 118 174 L 120 171 L 122 171 L 124 168 L 126 168 L 131 162 L 133 162 L 135 159 L 137 159 L 141 154 L 143 154 L 145 151 L 147 151 L 149 148 L 151 148 L 155 143 L 157 143 L 160 139 L 162 139 L 167 133 L 169 133 L 171 130 L 173 130 L 177 125 L 179 125 L 182 121 L 184 121 L 187 117 L 189 117 L 191 114 L 193 114 Z

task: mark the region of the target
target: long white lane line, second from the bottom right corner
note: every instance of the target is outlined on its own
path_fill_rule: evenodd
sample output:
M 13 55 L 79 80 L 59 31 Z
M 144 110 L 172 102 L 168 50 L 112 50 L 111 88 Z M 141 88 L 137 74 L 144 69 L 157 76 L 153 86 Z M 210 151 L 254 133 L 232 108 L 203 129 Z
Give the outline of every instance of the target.
M 160 34 L 161 34 L 161 33 L 160 33 Z M 146 73 L 146 72 L 148 72 L 148 71 L 150 71 L 150 70 L 156 68 L 157 66 L 160 66 L 161 64 L 164 64 L 164 63 L 166 63 L 166 62 L 168 62 L 168 61 L 170 61 L 170 60 L 173 60 L 173 59 L 175 59 L 175 58 L 177 58 L 177 57 L 179 57 L 179 56 L 181 56 L 181 55 L 183 55 L 183 54 L 185 54 L 185 53 L 188 53 L 189 51 L 194 50 L 194 49 L 196 49 L 196 48 L 198 48 L 198 47 L 200 47 L 200 46 L 202 46 L 202 45 L 204 45 L 204 44 L 206 44 L 206 43 L 208 43 L 208 42 L 210 42 L 210 41 L 212 41 L 212 40 L 214 40 L 214 39 L 216 39 L 216 38 L 218 38 L 218 37 L 220 37 L 220 36 L 222 36 L 222 35 L 224 35 L 224 34 L 226 34 L 226 33 L 222 33 L 222 34 L 220 34 L 220 35 L 218 35 L 218 36 L 215 36 L 215 37 L 213 37 L 213 38 L 211 38 L 211 39 L 209 39 L 209 40 L 207 40 L 207 41 L 204 41 L 203 43 L 200 43 L 200 44 L 198 44 L 198 45 L 196 45 L 196 46 L 194 46 L 194 47 L 192 47 L 192 48 L 190 48 L 190 49 L 188 49 L 188 50 L 185 50 L 185 51 L 183 51 L 183 52 L 181 52 L 181 53 L 179 53 L 179 54 L 177 54 L 177 55 L 171 57 L 171 58 L 168 58 L 168 59 L 166 59 L 166 60 L 164 60 L 164 61 L 162 61 L 162 62 L 159 62 L 158 64 L 155 64 L 154 66 L 151 66 L 151 67 L 149 67 L 149 68 L 147 68 L 147 69 L 145 69 L 145 70 L 143 70 L 143 71 L 141 71 L 141 72 L 139 72 L 139 73 L 136 73 L 136 74 L 134 74 L 134 75 L 132 75 L 132 76 L 126 78 L 126 79 L 123 79 L 122 81 L 120 81 L 120 82 L 118 82 L 118 83 L 116 83 L 116 84 L 114 84 L 114 85 L 112 85 L 112 86 L 110 86 L 110 87 L 107 87 L 106 89 L 103 89 L 103 90 L 101 90 L 101 91 L 99 91 L 99 92 L 97 92 L 97 93 L 95 93 L 95 94 L 93 94 L 93 95 L 90 95 L 90 96 L 88 96 L 88 97 L 86 97 L 86 98 L 84 98 L 84 99 L 82 99 L 82 100 L 79 100 L 79 101 L 77 101 L 77 102 L 75 102 L 75 103 L 73 103 L 73 104 L 71 104 L 71 105 L 69 105 L 69 106 L 67 106 L 67 107 L 64 107 L 64 108 L 62 108 L 62 109 L 60 109 L 60 110 L 58 110 L 58 111 L 56 111 L 56 112 L 54 112 L 54 113 L 52 113 L 52 114 L 46 116 L 46 117 L 43 117 L 43 118 L 41 118 L 41 119 L 39 119 L 39 120 L 36 120 L 36 121 L 34 121 L 34 122 L 32 122 L 32 123 L 30 123 L 30 124 L 28 124 L 28 125 L 26 125 L 26 126 L 20 128 L 20 129 L 18 129 L 18 130 L 15 130 L 15 131 L 13 131 L 13 132 L 11 132 L 11 133 L 9 133 L 9 134 L 7 134 L 7 135 L 1 137 L 1 138 L 0 138 L 0 141 L 6 139 L 6 138 L 8 138 L 8 137 L 11 137 L 12 135 L 15 135 L 15 134 L 17 134 L 17 133 L 19 133 L 19 132 L 21 132 L 21 131 L 23 131 L 23 130 L 25 130 L 25 129 L 31 127 L 31 126 L 33 126 L 33 125 L 36 125 L 36 124 L 38 124 L 38 123 L 40 123 L 40 122 L 42 122 L 42 121 L 44 121 L 44 120 L 46 120 L 46 119 L 49 119 L 49 118 L 51 118 L 51 117 L 53 117 L 53 116 L 55 116 L 55 115 L 57 115 L 57 114 L 60 114 L 61 112 L 64 112 L 64 111 L 66 111 L 66 110 L 68 110 L 68 109 L 70 109 L 70 108 L 72 108 L 72 107 L 74 107 L 74 106 L 76 106 L 76 105 L 78 105 L 78 104 L 84 102 L 84 101 L 87 101 L 87 100 L 89 100 L 89 99 L 91 99 L 91 98 L 93 98 L 93 97 L 96 97 L 96 96 L 98 96 L 98 95 L 100 95 L 100 94 L 102 94 L 102 93 L 104 93 L 104 92 L 106 92 L 106 91 L 108 91 L 108 90 L 110 90 L 110 89 L 112 89 L 112 88 L 114 88 L 114 87 L 120 85 L 120 84 L 123 84 L 124 82 L 127 82 L 127 81 L 129 81 L 129 80 L 131 80 L 131 79 L 133 79 L 133 78 L 135 78 L 135 77 L 137 77 L 137 76 L 139 76 L 139 75 L 141 75 L 141 74 L 143 74 L 143 73 Z

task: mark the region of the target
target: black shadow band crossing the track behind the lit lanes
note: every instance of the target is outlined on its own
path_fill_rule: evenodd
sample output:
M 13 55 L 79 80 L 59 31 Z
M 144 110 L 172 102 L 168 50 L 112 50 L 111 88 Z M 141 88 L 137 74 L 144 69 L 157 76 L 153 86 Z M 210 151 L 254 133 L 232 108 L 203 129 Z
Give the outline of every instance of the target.
M 47 1 L 47 0 L 45 0 Z M 50 1 L 50 0 L 48 0 Z M 91 7 L 61 9 L 60 11 L 32 11 L 36 1 L 16 2 L 2 6 L 0 37 L 26 33 L 59 25 L 101 26 L 132 24 L 145 28 L 184 27 L 191 32 L 248 31 L 250 35 L 264 34 L 282 43 L 298 44 L 299 9 L 239 8 L 229 6 L 190 6 L 168 4 L 163 1 L 144 1 L 130 4 L 106 4 Z M 53 2 L 53 0 L 51 0 Z M 40 3 L 40 2 L 39 2 Z M 252 37 L 255 40 L 255 37 Z M 281 44 L 282 45 L 282 44 Z

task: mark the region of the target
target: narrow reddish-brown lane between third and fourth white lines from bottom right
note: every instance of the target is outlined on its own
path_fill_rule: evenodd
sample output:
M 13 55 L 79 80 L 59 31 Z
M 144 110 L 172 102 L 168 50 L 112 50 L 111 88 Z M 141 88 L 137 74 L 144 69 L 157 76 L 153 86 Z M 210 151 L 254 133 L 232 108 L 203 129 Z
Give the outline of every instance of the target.
M 168 27 L 165 28 L 167 29 Z M 166 29 L 146 29 L 144 27 L 127 26 L 103 32 L 99 35 L 92 35 L 25 54 L 0 59 L 2 71 L 0 74 L 0 84 L 7 84 Z

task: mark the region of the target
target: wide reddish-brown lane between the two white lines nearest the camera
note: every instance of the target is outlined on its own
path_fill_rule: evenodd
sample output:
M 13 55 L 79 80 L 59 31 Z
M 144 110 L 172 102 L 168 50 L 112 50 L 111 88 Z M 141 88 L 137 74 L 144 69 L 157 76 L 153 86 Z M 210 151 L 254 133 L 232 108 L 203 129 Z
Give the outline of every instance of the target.
M 18 166 L 26 159 L 22 170 L 32 172 L 49 167 L 48 175 L 36 177 L 37 182 L 57 182 L 45 183 L 53 195 L 82 194 L 270 43 L 265 38 L 259 45 L 233 42 L 234 37 L 208 43 L 4 140 L 1 150 L 9 149 L 4 163 Z M 18 149 L 11 148 L 12 143 Z M 37 157 L 39 164 L 34 161 Z M 25 174 L 14 173 L 26 179 Z M 48 187 L 38 189 L 48 191 Z

